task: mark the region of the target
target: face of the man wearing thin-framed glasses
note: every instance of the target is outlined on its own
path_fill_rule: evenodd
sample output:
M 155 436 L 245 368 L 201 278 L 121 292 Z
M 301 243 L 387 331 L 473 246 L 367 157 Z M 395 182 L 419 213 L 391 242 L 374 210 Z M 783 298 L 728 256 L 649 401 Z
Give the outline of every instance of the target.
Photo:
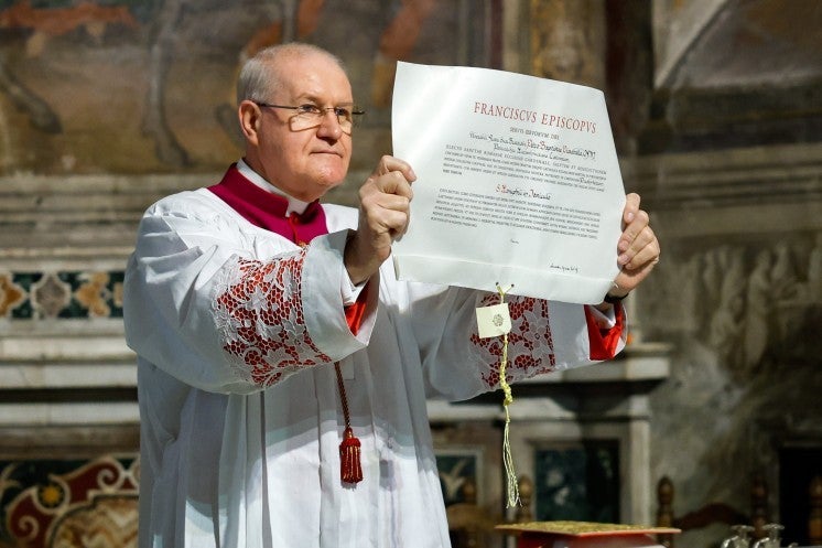
M 313 104 L 321 108 L 349 106 L 351 86 L 345 73 L 323 55 L 288 57 L 279 67 L 279 89 L 268 97 L 273 105 Z M 340 184 L 351 159 L 351 136 L 333 111 L 315 127 L 294 130 L 294 110 L 260 107 L 259 162 L 271 184 L 291 196 L 312 202 Z

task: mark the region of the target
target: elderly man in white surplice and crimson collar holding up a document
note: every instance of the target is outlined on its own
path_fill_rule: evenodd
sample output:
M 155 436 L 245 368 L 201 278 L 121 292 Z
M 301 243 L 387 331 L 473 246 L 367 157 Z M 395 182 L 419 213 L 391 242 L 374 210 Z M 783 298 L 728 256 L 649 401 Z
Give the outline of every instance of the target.
M 498 387 L 499 346 L 475 320 L 497 296 L 397 281 L 386 259 L 414 181 L 402 160 L 379 161 L 359 212 L 318 204 L 346 175 L 360 114 L 334 56 L 264 50 L 238 92 L 245 157 L 151 206 L 129 261 L 140 546 L 448 546 L 426 398 Z M 630 195 L 610 297 L 658 255 Z M 618 304 L 511 309 L 511 382 L 623 345 Z

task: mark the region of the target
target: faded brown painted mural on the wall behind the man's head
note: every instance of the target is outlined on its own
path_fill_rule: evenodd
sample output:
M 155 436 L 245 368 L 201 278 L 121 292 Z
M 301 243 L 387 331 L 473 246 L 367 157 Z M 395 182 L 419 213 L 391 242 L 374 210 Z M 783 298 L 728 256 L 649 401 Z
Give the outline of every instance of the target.
M 239 66 L 293 40 L 340 56 L 366 132 L 385 132 L 396 61 L 486 65 L 486 13 L 487 0 L 0 0 L 0 175 L 221 170 L 239 151 Z M 375 153 L 386 141 L 366 139 Z

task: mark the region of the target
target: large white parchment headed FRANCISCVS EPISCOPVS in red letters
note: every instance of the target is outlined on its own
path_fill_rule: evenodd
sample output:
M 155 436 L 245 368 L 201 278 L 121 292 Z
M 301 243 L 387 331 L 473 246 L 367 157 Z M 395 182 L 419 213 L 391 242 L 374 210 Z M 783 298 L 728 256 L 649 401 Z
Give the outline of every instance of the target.
M 399 279 L 602 302 L 625 206 L 602 92 L 399 63 L 391 123 L 418 176 Z

